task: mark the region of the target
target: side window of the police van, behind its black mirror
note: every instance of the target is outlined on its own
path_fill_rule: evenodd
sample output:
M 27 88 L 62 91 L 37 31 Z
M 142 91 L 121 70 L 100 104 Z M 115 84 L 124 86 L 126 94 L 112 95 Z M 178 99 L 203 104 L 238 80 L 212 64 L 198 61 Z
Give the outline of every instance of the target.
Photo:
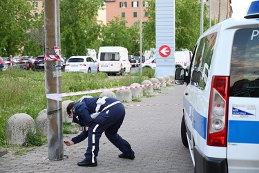
M 203 37 L 200 40 L 200 44 L 195 53 L 195 59 L 193 60 L 192 70 L 195 71 L 195 73 L 193 72 L 192 74 L 195 75 L 191 76 L 191 84 L 202 91 L 207 84 L 216 37 L 217 33 Z

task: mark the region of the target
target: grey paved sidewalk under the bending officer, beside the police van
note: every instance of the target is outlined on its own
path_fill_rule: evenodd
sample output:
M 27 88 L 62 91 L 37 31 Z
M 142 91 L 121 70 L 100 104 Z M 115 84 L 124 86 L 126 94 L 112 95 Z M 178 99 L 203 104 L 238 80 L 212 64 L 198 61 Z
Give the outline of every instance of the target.
M 119 158 L 120 151 L 103 134 L 99 141 L 97 167 L 79 167 L 87 139 L 64 146 L 68 159 L 48 161 L 48 145 L 35 147 L 21 156 L 8 153 L 0 158 L 0 172 L 193 172 L 189 149 L 182 145 L 182 94 L 185 86 L 171 85 L 155 91 L 154 97 L 124 103 L 126 117 L 119 135 L 131 143 L 135 159 Z M 152 105 L 157 104 L 157 105 Z M 71 138 L 74 135 L 64 135 Z

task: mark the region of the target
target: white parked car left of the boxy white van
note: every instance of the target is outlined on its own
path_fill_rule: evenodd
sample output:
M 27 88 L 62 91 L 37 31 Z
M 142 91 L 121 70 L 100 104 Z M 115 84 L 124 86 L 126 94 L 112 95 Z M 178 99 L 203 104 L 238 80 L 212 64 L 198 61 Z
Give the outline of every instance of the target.
M 72 56 L 68 59 L 65 72 L 97 73 L 98 65 L 90 56 Z

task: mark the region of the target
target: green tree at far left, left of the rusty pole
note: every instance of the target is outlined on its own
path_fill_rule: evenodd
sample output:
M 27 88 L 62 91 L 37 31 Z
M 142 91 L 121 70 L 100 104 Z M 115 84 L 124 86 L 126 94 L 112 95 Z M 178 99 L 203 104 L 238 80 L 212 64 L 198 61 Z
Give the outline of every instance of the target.
M 30 28 L 32 6 L 26 0 L 0 1 L 0 54 L 2 56 L 23 53 L 23 43 Z

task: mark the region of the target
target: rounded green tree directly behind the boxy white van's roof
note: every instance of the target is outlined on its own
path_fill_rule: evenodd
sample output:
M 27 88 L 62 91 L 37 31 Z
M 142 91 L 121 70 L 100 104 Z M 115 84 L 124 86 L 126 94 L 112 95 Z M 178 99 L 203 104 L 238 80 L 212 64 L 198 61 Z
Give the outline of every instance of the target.
M 130 55 L 139 54 L 139 27 L 127 27 L 126 22 L 126 19 L 119 17 L 108 21 L 102 30 L 102 46 L 122 46 L 128 49 Z

